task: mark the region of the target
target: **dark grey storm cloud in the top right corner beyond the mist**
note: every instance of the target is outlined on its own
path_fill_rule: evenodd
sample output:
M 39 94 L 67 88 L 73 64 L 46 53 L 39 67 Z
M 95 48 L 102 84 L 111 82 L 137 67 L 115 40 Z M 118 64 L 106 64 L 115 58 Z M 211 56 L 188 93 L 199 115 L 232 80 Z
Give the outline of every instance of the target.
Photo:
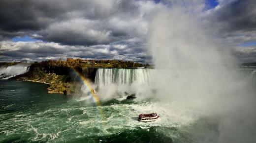
M 206 14 L 212 26 L 219 29 L 225 42 L 239 44 L 256 41 L 256 0 L 219 0 L 220 5 Z

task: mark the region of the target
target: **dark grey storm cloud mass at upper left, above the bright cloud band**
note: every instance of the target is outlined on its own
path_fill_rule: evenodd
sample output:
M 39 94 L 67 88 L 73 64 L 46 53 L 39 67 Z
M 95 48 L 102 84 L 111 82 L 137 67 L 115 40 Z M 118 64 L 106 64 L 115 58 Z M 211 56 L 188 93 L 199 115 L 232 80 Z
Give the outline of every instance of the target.
M 67 45 L 107 44 L 145 29 L 141 13 L 134 0 L 1 0 L 0 34 L 12 38 L 33 31 Z

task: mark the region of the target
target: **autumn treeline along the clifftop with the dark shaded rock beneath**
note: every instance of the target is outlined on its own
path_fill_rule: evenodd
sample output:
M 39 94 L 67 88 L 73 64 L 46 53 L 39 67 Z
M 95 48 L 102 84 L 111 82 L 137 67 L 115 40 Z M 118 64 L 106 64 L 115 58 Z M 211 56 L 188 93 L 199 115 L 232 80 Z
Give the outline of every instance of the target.
M 130 61 L 121 60 L 82 60 L 67 58 L 67 60 L 47 60 L 42 62 L 34 62 L 30 66 L 30 71 L 25 73 L 28 77 L 44 77 L 45 74 L 55 73 L 57 75 L 65 75 L 64 82 L 70 81 L 70 71 L 75 68 L 77 71 L 84 74 L 85 77 L 91 78 L 93 73 L 91 71 L 87 73 L 85 69 L 90 68 L 138 68 L 149 66 L 141 63 L 134 63 Z M 90 74 L 89 74 L 90 73 Z M 95 71 L 96 73 L 96 71 Z M 92 75 L 91 75 L 92 74 Z M 92 76 L 94 80 L 94 76 Z

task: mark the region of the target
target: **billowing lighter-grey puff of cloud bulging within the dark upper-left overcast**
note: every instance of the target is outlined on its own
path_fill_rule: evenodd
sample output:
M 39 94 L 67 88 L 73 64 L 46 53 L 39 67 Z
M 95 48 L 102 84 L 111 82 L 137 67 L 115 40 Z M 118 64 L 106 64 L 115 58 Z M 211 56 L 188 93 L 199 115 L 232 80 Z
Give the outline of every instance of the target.
M 85 19 L 55 23 L 41 33 L 43 40 L 67 45 L 107 44 L 114 40 L 111 31 L 101 29 L 99 22 Z

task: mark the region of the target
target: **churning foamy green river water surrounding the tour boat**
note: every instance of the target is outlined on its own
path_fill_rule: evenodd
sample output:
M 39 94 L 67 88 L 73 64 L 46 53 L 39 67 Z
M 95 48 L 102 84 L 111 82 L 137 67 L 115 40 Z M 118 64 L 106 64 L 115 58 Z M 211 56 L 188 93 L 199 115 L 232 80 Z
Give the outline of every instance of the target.
M 98 109 L 88 97 L 50 95 L 47 87 L 0 80 L 1 143 L 191 143 L 217 127 L 177 105 L 122 98 L 103 101 Z M 152 110 L 159 120 L 137 121 L 141 111 Z

